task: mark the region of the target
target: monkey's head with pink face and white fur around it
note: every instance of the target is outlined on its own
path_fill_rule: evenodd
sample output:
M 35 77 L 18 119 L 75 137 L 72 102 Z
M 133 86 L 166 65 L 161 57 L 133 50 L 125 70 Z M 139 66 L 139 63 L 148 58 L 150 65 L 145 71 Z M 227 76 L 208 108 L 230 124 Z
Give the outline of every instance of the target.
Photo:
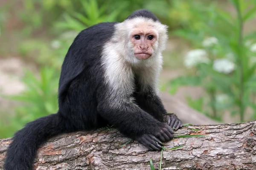
M 144 17 L 140 14 L 132 14 L 117 24 L 116 32 L 116 40 L 122 44 L 117 48 L 132 63 L 160 56 L 168 39 L 166 25 L 156 17 Z

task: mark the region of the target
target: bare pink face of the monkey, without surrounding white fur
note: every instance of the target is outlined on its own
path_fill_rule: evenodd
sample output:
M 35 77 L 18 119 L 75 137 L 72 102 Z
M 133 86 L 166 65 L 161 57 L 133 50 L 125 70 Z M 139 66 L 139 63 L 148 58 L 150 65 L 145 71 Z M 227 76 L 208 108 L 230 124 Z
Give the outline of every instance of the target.
M 154 52 L 157 32 L 148 24 L 141 24 L 131 31 L 130 41 L 137 59 L 148 59 Z

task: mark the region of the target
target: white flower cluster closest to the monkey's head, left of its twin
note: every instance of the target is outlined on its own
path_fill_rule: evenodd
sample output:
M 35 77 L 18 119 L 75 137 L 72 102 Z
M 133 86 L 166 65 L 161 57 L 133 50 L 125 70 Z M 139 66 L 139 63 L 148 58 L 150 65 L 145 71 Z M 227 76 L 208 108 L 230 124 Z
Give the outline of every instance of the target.
M 194 49 L 189 51 L 184 60 L 184 65 L 187 68 L 192 68 L 199 63 L 209 63 L 209 59 L 207 58 L 207 52 L 203 49 Z

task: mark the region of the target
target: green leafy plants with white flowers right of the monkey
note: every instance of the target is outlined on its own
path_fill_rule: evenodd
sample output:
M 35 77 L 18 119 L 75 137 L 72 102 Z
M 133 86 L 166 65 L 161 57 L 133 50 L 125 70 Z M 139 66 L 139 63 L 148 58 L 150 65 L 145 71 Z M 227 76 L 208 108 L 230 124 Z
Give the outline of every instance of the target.
M 253 49 L 256 32 L 244 34 L 243 31 L 244 23 L 256 16 L 256 4 L 229 1 L 236 9 L 236 16 L 212 3 L 193 9 L 199 16 L 200 28 L 192 25 L 174 31 L 174 35 L 186 38 L 198 49 L 189 51 L 184 60 L 190 74 L 172 80 L 169 85 L 172 94 L 181 85 L 200 86 L 207 95 L 204 101 L 189 99 L 193 108 L 218 120 L 228 109 L 239 114 L 244 122 L 247 108 L 253 110 L 251 119 L 256 119 L 256 49 Z

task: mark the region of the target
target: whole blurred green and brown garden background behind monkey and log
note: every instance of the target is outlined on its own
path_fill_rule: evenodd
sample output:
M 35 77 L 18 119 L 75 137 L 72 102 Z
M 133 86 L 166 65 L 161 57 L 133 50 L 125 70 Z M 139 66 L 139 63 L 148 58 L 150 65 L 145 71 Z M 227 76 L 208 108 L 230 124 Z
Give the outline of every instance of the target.
M 256 119 L 255 0 L 0 0 L 0 139 L 58 111 L 79 31 L 140 8 L 169 26 L 162 91 L 218 122 Z

